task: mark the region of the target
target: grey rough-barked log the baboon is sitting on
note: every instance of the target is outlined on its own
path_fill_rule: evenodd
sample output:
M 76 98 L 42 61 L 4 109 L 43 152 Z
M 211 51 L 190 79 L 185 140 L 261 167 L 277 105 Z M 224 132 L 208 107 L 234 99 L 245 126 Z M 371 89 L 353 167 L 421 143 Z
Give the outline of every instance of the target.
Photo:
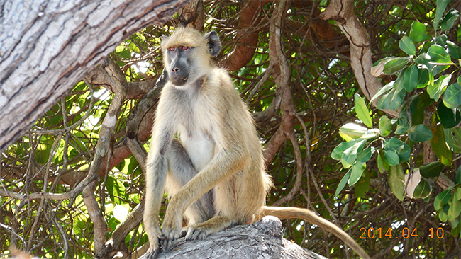
M 282 238 L 282 222 L 272 216 L 255 224 L 230 227 L 204 240 L 184 241 L 181 238 L 172 250 L 158 255 L 158 259 L 169 258 L 326 259 Z

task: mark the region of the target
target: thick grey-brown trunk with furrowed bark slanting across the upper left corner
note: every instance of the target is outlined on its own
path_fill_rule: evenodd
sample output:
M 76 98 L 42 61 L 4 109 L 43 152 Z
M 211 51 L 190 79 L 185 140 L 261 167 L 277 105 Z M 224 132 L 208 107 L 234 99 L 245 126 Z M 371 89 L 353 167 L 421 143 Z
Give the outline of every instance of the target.
M 128 36 L 187 0 L 0 4 L 0 151 Z

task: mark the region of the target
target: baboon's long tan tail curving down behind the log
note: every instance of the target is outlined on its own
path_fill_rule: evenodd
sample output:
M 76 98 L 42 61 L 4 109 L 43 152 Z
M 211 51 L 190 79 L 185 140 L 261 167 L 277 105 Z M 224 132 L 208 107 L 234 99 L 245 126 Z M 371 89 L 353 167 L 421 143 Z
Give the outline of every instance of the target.
M 262 214 L 260 217 L 264 216 L 275 216 L 279 219 L 304 219 L 311 222 L 311 224 L 316 224 L 322 229 L 325 229 L 331 234 L 337 236 L 342 241 L 344 241 L 350 248 L 352 248 L 355 253 L 357 253 L 361 258 L 370 259 L 370 256 L 362 249 L 361 246 L 354 239 L 352 239 L 349 234 L 345 233 L 343 229 L 340 229 L 335 224 L 330 221 L 323 219 L 323 217 L 313 214 L 309 209 L 301 209 L 296 207 L 262 207 Z

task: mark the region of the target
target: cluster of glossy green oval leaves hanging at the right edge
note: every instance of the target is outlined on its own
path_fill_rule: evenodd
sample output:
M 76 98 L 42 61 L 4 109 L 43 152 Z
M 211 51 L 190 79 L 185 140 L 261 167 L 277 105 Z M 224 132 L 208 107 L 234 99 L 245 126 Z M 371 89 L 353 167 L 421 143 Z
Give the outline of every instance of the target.
M 459 236 L 461 166 L 455 164 L 454 157 L 461 152 L 458 127 L 461 122 L 461 47 L 449 40 L 448 35 L 460 14 L 451 9 L 443 16 L 448 2 L 437 1 L 434 35 L 427 33 L 424 23 L 413 21 L 410 30 L 399 40 L 399 48 L 406 55 L 399 53 L 399 57 L 385 57 L 374 63 L 375 76 L 395 76 L 372 100 L 378 100 L 377 108 L 381 110 L 399 111 L 399 117 L 379 117 L 379 130 L 344 125 L 340 135 L 346 142 L 336 146 L 331 157 L 348 169 L 336 195 L 346 183 L 356 185 L 360 178 L 368 177 L 364 172 L 373 157 L 379 171 L 387 171 L 389 187 L 395 197 L 433 202 L 437 212 L 435 220 L 449 221 L 452 235 Z M 457 37 L 459 41 L 459 33 Z M 370 111 L 357 94 L 355 113 L 367 127 L 373 127 Z M 431 149 L 421 149 L 429 143 Z M 427 154 L 435 154 L 438 161 L 426 159 Z M 456 167 L 455 176 L 450 172 Z M 454 177 L 450 185 L 438 193 L 433 185 L 443 172 Z

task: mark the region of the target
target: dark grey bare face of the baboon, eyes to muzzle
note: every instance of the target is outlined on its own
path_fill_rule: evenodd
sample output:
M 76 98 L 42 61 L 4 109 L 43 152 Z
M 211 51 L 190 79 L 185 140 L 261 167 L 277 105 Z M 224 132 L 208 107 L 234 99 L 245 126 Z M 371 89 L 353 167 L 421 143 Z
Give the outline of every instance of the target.
M 184 86 L 189 78 L 191 59 L 191 47 L 178 46 L 167 49 L 167 62 L 170 63 L 168 76 L 175 86 Z

